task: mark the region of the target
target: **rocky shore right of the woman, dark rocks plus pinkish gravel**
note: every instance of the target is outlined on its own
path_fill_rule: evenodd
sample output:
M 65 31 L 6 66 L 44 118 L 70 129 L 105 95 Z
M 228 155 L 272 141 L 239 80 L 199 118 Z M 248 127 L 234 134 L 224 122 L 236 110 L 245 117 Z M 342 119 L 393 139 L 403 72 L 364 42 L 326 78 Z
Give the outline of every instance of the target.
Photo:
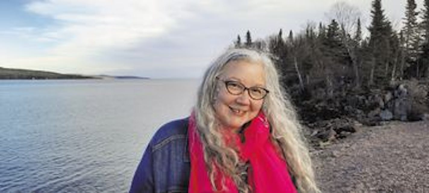
M 429 193 L 428 80 L 290 93 L 323 193 Z

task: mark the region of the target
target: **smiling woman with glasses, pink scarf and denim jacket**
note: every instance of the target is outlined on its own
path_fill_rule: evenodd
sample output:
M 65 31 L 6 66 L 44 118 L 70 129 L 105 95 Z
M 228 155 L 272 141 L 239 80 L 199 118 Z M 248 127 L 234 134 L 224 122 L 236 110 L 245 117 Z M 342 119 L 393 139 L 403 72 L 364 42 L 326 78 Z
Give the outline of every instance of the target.
M 130 193 L 317 193 L 308 148 L 266 54 L 229 49 L 189 118 L 161 127 Z

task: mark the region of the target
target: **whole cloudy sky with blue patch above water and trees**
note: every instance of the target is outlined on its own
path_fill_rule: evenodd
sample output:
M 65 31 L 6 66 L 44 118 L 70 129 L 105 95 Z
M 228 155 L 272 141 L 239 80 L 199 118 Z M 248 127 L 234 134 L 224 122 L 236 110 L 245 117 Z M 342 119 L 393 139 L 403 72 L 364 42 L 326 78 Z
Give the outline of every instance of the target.
M 0 67 L 199 78 L 237 35 L 298 33 L 327 23 L 338 2 L 359 9 L 368 26 L 371 0 L 0 0 Z M 396 29 L 405 4 L 382 0 Z

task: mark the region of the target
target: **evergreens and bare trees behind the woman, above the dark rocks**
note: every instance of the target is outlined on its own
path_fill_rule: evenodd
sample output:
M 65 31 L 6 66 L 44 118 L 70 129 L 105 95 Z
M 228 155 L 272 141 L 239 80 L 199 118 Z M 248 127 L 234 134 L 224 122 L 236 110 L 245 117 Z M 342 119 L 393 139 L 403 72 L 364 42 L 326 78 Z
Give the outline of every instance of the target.
M 335 90 L 374 88 L 395 81 L 429 77 L 429 0 L 417 9 L 407 0 L 402 29 L 395 30 L 381 0 L 373 0 L 369 35 L 364 36 L 359 9 L 336 3 L 327 24 L 308 23 L 302 32 L 283 30 L 266 39 L 240 36 L 235 47 L 260 49 L 272 54 L 286 86 L 300 90 L 323 87 Z

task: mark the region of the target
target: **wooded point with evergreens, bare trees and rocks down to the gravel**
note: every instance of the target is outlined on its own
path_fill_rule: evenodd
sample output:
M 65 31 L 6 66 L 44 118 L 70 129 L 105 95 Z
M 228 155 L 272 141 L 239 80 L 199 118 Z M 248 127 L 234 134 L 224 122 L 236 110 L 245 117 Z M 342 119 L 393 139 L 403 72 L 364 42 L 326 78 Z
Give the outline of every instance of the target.
M 419 9 L 407 0 L 400 29 L 381 0 L 372 0 L 369 26 L 345 2 L 326 15 L 328 23 L 309 22 L 299 33 L 280 29 L 252 40 L 247 31 L 232 46 L 271 54 L 300 119 L 322 139 L 347 136 L 359 124 L 428 119 L 429 0 Z

